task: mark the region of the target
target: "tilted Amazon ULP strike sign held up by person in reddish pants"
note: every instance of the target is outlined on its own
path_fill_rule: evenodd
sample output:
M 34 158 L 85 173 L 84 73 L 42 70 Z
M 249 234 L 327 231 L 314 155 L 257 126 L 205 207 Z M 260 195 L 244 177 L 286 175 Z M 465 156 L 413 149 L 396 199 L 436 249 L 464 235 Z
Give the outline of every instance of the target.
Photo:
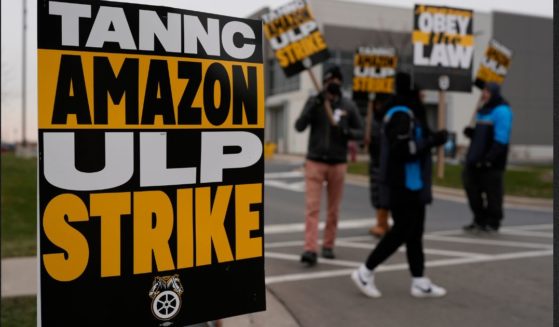
M 292 1 L 262 16 L 264 35 L 286 76 L 330 57 L 328 46 L 306 0 Z

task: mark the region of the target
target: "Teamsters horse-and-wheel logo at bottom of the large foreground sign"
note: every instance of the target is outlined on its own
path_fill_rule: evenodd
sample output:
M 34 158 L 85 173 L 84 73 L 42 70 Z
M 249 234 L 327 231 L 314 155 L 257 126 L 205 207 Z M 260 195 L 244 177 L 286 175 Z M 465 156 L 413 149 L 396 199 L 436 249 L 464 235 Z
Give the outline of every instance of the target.
M 155 277 L 149 291 L 153 315 L 159 320 L 173 319 L 181 308 L 183 292 L 179 275 Z

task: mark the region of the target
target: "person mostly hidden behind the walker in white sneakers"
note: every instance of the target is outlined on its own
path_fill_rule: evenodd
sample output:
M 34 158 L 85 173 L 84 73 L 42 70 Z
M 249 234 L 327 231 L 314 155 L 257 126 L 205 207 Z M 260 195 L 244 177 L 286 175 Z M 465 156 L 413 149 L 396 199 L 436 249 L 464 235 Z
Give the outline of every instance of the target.
M 380 192 L 386 192 L 379 183 L 380 175 L 380 138 L 384 107 L 389 99 L 388 94 L 377 94 L 367 108 L 365 137 L 363 143 L 369 150 L 369 195 L 373 208 L 376 211 L 376 225 L 369 229 L 369 234 L 382 237 L 388 229 L 388 215 L 390 211 L 386 205 L 380 203 Z

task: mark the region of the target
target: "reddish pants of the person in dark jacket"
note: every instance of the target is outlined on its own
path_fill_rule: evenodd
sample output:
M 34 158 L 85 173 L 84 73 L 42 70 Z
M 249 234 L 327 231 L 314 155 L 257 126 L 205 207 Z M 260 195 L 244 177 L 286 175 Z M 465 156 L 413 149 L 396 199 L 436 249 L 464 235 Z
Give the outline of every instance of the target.
M 324 182 L 328 192 L 328 213 L 322 246 L 334 248 L 346 169 L 345 163 L 325 164 L 311 160 L 305 163 L 305 251 L 317 251 L 320 199 Z

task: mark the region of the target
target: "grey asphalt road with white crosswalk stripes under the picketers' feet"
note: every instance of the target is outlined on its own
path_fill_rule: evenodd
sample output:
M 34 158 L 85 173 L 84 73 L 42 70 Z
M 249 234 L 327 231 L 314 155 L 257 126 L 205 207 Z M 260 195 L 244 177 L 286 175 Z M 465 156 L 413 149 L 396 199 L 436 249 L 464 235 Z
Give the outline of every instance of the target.
M 471 220 L 464 197 L 437 190 L 427 210 L 426 275 L 448 295 L 411 297 L 401 248 L 377 269 L 383 296 L 369 299 L 349 278 L 378 242 L 367 232 L 374 217 L 367 180 L 347 179 L 337 258 L 308 268 L 299 262 L 304 237 L 302 163 L 298 158 L 268 162 L 265 188 L 266 283 L 300 326 L 552 325 L 550 202 L 509 201 L 498 234 L 469 235 L 461 230 Z M 322 202 L 324 221 L 325 197 Z

